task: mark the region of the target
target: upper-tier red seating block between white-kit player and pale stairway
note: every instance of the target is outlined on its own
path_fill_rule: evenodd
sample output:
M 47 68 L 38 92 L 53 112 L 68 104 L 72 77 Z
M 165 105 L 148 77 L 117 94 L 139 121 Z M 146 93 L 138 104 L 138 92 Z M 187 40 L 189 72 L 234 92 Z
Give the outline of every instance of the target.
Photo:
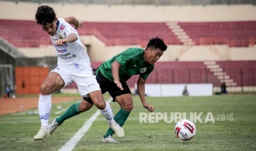
M 81 34 L 88 29 L 99 31 L 107 39 L 106 45 L 145 45 L 155 36 L 165 39 L 167 44 L 181 44 L 166 22 L 85 22 L 85 25 Z

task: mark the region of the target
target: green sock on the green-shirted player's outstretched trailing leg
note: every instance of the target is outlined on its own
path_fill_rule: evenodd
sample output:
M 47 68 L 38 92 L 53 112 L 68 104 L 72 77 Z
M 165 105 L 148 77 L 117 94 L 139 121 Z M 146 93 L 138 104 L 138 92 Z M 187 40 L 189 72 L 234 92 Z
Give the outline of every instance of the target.
M 67 109 L 67 111 L 66 111 L 64 114 L 61 115 L 61 117 L 58 117 L 58 118 L 56 119 L 56 122 L 57 122 L 59 125 L 61 125 L 61 124 L 64 122 L 64 120 L 69 119 L 69 118 L 72 118 L 72 117 L 74 117 L 75 115 L 80 114 L 81 112 L 79 111 L 79 104 L 80 104 L 80 103 L 75 103 L 75 104 L 73 104 L 72 106 L 70 106 L 70 107 Z

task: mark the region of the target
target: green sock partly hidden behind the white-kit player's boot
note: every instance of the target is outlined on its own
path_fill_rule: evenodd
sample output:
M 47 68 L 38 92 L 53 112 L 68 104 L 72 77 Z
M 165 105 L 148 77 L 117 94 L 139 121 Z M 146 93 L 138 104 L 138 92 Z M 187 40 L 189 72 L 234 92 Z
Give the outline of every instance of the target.
M 119 124 L 121 127 L 124 125 L 124 122 L 126 122 L 127 118 L 129 117 L 130 112 L 124 109 L 120 109 L 117 114 L 114 117 L 114 120 L 117 124 Z M 111 128 L 109 128 L 106 132 L 106 135 L 104 138 L 107 138 L 108 136 L 113 136 L 113 133 L 115 133 Z

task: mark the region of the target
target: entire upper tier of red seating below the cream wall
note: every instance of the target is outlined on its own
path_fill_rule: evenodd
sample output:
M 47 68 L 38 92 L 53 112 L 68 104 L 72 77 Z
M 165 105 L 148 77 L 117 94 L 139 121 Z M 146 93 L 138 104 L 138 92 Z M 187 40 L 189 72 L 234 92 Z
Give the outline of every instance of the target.
M 167 44 L 182 44 L 166 22 L 84 22 L 82 35 L 94 35 L 106 45 L 133 45 L 143 47 L 152 37 L 159 36 Z M 228 44 L 230 47 L 248 47 L 256 44 L 256 21 L 232 22 L 178 22 L 178 25 L 200 44 Z M 35 21 L 0 20 L 0 36 L 15 47 L 38 47 L 51 44 L 48 34 Z

